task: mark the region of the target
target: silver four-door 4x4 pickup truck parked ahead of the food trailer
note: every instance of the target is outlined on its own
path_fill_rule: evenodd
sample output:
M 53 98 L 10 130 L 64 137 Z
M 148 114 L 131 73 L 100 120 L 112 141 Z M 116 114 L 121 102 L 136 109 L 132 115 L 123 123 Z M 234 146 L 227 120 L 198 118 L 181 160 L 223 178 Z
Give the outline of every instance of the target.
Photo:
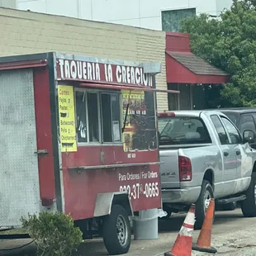
M 164 211 L 185 211 L 196 203 L 201 229 L 210 198 L 240 201 L 244 216 L 256 216 L 256 151 L 252 130 L 239 130 L 220 111 L 159 113 L 159 154 Z

